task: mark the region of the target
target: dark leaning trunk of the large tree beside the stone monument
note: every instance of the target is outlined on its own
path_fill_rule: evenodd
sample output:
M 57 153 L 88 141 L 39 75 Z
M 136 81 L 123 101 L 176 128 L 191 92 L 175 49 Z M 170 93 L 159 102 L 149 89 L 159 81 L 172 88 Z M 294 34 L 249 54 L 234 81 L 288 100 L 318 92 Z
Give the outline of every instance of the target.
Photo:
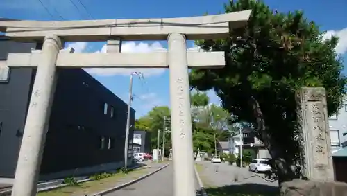
M 255 135 L 264 143 L 271 154 L 274 171 L 278 177 L 279 185 L 284 181 L 291 181 L 296 178 L 291 154 L 285 152 L 280 143 L 269 134 L 269 130 L 266 130 L 267 127 L 264 121 L 264 116 L 258 101 L 251 97 L 249 104 L 255 117 Z

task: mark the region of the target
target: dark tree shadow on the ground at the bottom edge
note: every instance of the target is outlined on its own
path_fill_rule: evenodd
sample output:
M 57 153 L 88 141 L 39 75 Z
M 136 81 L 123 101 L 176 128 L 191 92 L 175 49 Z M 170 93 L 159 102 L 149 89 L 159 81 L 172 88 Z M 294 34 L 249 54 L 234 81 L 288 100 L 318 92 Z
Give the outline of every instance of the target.
M 280 189 L 265 184 L 232 184 L 205 188 L 208 196 L 279 196 Z

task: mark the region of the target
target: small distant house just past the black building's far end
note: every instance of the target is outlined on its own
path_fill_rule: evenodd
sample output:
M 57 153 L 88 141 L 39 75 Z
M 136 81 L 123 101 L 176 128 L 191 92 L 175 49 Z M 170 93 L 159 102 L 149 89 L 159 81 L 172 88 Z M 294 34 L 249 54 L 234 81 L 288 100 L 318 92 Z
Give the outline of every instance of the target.
M 151 152 L 151 133 L 143 130 L 135 130 L 133 138 L 133 151 Z

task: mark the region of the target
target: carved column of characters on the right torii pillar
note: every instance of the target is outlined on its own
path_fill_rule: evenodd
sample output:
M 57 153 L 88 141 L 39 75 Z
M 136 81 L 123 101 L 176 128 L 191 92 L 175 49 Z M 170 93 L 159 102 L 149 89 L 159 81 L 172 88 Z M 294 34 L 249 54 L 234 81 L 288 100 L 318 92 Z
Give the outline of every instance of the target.
M 183 109 L 185 108 L 185 103 L 184 103 L 184 97 L 183 97 L 183 79 L 178 78 L 176 80 L 176 83 L 178 84 L 177 86 L 177 99 L 178 99 L 178 114 L 179 114 L 179 119 L 178 123 L 180 125 L 180 138 L 185 138 L 185 118 L 184 118 L 184 111 Z

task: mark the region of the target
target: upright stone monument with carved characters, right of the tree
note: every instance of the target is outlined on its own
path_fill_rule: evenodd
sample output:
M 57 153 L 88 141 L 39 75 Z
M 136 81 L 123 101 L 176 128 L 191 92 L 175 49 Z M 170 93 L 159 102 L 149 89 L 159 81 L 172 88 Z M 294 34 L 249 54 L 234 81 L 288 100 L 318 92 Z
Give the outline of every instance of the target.
M 314 181 L 334 179 L 324 88 L 303 87 L 297 93 L 301 125 L 303 174 Z

